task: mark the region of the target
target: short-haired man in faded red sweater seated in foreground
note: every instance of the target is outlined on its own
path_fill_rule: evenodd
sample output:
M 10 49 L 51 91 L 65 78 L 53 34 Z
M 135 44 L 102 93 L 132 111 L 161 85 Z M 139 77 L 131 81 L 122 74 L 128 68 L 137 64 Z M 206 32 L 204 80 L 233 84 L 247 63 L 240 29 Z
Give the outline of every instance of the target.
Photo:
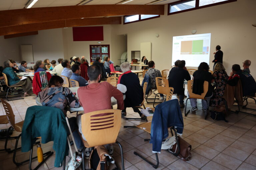
M 91 65 L 88 67 L 88 86 L 79 87 L 77 90 L 80 105 L 83 106 L 84 114 L 111 109 L 111 97 L 117 100 L 117 109 L 124 109 L 123 94 L 114 86 L 104 81 L 100 83 L 101 67 L 99 65 Z M 79 132 L 82 133 L 81 114 L 77 116 L 77 125 Z M 82 134 L 84 140 L 85 137 Z M 113 154 L 113 145 L 107 145 L 109 154 Z M 85 156 L 89 158 L 90 148 L 86 148 Z

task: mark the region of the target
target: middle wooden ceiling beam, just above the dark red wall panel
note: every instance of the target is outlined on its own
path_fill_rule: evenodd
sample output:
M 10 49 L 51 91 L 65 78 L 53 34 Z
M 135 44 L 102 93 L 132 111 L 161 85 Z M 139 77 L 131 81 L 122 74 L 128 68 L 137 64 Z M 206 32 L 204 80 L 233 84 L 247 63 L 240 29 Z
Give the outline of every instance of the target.
M 121 24 L 121 20 L 121 17 L 84 18 L 0 27 L 0 36 L 64 27 Z

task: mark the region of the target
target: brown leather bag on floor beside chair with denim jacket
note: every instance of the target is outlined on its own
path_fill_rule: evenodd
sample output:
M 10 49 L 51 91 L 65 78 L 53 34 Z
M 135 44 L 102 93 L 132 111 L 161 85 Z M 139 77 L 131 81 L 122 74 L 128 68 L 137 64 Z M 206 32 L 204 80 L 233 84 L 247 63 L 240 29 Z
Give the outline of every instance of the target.
M 182 139 L 180 136 L 178 136 L 178 142 L 179 142 L 179 146 L 180 146 L 179 157 L 183 161 L 189 161 L 192 157 L 192 155 L 191 155 L 192 146 L 186 140 Z M 172 145 L 172 148 L 169 149 L 169 151 L 171 151 L 171 153 L 173 153 L 173 154 L 177 153 L 178 149 L 176 150 L 176 147 L 177 147 L 177 143 Z

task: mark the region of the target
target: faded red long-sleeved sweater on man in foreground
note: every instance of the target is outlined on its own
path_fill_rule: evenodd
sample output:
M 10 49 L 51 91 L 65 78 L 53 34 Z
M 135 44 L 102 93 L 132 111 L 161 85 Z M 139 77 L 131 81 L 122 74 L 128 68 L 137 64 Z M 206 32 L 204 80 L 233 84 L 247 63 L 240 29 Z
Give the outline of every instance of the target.
M 117 100 L 117 109 L 124 109 L 123 93 L 106 81 L 79 87 L 77 94 L 84 113 L 111 109 L 112 96 Z

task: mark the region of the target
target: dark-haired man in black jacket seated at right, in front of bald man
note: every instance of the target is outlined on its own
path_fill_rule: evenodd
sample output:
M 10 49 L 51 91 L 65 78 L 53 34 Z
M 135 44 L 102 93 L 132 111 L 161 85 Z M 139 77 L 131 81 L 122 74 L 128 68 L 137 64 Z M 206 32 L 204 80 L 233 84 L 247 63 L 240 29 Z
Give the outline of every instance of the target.
M 241 70 L 240 65 L 234 64 L 227 83 L 235 86 L 239 78 L 242 83 L 243 96 L 255 96 L 256 82 L 254 78 L 247 71 Z

